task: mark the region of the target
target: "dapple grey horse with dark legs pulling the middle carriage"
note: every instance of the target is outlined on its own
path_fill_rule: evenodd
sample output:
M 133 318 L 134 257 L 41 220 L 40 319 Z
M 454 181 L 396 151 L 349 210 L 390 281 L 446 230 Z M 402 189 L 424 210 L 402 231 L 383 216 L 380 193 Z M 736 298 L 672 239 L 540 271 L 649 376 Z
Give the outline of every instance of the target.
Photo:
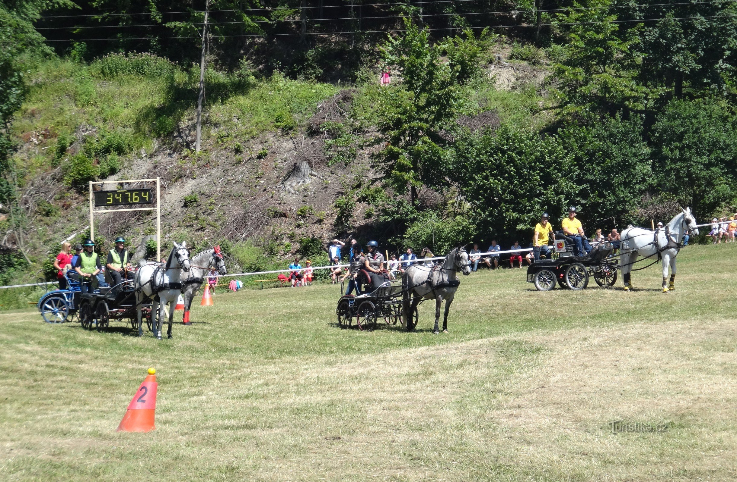
M 433 333 L 440 333 L 440 307 L 445 300 L 445 316 L 443 317 L 443 333 L 448 333 L 448 311 L 453 303 L 455 291 L 461 283 L 457 273 L 471 274 L 468 253 L 464 247 L 457 247 L 445 258 L 442 265 L 424 266 L 413 264 L 402 274 L 402 326 L 412 330 L 411 316 L 422 300 L 435 300 L 435 327 Z M 410 300 L 410 297 L 412 299 Z

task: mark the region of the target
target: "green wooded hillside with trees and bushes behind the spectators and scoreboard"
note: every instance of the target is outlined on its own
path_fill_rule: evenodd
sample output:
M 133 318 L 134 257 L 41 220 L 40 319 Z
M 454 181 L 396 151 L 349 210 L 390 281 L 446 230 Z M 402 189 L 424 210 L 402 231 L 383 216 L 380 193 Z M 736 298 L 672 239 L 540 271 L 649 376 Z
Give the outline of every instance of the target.
M 0 283 L 53 277 L 60 239 L 87 234 L 88 180 L 127 172 L 166 171 L 174 196 L 245 169 L 259 189 L 180 189 L 165 220 L 236 269 L 333 236 L 526 245 L 569 205 L 587 227 L 734 213 L 736 4 L 212 0 L 194 152 L 204 1 L 0 0 Z M 99 249 L 151 230 L 124 216 Z

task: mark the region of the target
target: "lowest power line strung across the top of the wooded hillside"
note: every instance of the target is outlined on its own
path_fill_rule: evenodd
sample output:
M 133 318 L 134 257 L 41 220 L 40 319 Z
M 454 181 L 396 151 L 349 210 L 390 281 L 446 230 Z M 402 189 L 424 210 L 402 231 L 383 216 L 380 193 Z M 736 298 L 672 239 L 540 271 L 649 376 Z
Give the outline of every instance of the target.
M 737 15 L 710 15 L 710 16 L 698 16 L 698 17 L 662 17 L 662 18 L 646 18 L 643 20 L 613 20 L 613 21 L 591 21 L 591 22 L 553 22 L 550 24 L 540 24 L 540 26 L 558 26 L 558 25 L 595 25 L 595 24 L 627 24 L 627 23 L 642 23 L 652 22 L 660 20 L 694 20 L 698 18 L 734 18 Z M 400 17 L 397 17 L 400 18 Z M 495 25 L 495 26 L 471 26 L 468 29 L 508 29 L 508 28 L 520 28 L 520 27 L 536 27 L 537 24 L 528 25 Z M 434 30 L 447 30 L 447 27 L 427 29 L 429 31 Z M 346 32 L 307 32 L 304 35 L 347 35 L 354 33 L 397 33 L 397 32 L 408 32 L 408 29 L 393 29 L 393 30 L 349 30 Z M 254 34 L 254 35 L 216 35 L 218 38 L 262 38 L 262 37 L 285 37 L 293 35 L 303 35 L 301 33 L 278 33 L 278 34 Z M 200 38 L 199 35 L 189 37 L 122 37 L 122 38 L 68 38 L 58 40 L 46 40 L 46 42 L 93 42 L 103 40 L 173 40 L 173 39 L 189 39 L 189 38 Z

